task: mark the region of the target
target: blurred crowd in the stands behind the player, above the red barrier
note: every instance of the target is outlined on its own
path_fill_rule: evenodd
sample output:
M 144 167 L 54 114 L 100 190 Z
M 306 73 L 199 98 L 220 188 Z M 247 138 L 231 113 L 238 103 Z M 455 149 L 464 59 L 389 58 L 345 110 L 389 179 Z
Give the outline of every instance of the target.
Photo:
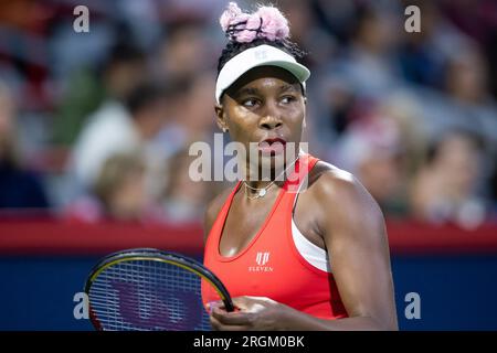
M 251 9 L 252 1 L 237 1 Z M 262 1 L 264 3 L 264 1 Z M 310 152 L 390 218 L 497 220 L 497 2 L 273 1 L 308 55 Z M 89 10 L 77 33 L 76 6 Z M 0 208 L 71 222 L 201 222 L 221 0 L 0 1 Z M 404 10 L 421 11 L 408 33 Z

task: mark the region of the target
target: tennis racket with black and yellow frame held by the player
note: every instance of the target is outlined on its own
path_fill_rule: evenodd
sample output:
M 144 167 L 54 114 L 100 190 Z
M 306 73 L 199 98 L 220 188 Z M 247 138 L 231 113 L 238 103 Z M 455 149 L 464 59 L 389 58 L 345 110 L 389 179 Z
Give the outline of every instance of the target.
M 89 319 L 104 331 L 211 330 L 202 281 L 215 290 L 226 311 L 233 311 L 223 284 L 191 258 L 151 248 L 114 253 L 86 280 Z

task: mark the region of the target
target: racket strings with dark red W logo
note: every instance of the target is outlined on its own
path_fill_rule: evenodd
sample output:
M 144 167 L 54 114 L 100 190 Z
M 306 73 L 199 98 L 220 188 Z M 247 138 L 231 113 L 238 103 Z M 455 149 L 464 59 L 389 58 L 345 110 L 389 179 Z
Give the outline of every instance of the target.
M 157 260 L 129 260 L 104 269 L 89 302 L 104 330 L 210 330 L 201 279 Z

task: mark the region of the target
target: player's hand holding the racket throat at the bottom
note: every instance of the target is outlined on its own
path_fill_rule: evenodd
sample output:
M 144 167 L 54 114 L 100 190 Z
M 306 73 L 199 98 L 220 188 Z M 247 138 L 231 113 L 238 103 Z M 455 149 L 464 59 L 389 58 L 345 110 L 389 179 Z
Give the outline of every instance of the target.
M 235 311 L 228 312 L 222 302 L 210 304 L 211 324 L 219 331 L 283 330 L 285 312 L 289 307 L 265 297 L 233 298 Z

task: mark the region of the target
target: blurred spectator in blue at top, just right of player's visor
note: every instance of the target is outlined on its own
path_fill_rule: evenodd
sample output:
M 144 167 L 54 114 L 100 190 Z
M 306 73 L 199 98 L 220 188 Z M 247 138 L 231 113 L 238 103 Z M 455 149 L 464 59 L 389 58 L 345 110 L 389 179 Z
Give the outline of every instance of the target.
M 320 8 L 325 3 L 341 4 L 335 0 L 318 2 Z M 322 125 L 316 133 L 325 143 L 337 140 L 349 124 L 361 117 L 364 107 L 368 109 L 405 85 L 394 56 L 399 31 L 393 29 L 400 24 L 391 9 L 372 2 L 349 6 L 340 9 L 347 18 L 341 23 L 345 28 L 332 29 L 346 44 L 328 58 L 326 66 L 314 69 L 317 75 L 313 76 L 315 84 L 309 94 L 309 99 L 316 96 L 313 106 Z

